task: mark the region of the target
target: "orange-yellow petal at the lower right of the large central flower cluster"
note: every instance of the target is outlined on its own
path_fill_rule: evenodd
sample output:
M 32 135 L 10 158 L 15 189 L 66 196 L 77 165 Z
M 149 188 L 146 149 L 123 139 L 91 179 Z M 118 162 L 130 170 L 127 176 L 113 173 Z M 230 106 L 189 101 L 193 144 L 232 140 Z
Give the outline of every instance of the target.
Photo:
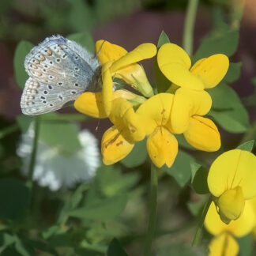
M 195 149 L 214 152 L 220 149 L 220 133 L 210 119 L 194 115 L 183 133 L 186 141 Z

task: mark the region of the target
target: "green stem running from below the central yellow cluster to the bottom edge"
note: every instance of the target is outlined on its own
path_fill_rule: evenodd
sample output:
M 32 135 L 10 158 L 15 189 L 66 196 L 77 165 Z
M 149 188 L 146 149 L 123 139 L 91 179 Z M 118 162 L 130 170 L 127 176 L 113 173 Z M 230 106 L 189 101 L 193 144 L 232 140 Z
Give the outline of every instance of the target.
M 158 168 L 154 164 L 151 164 L 151 179 L 150 179 L 150 212 L 149 212 L 149 225 L 148 232 L 145 239 L 144 256 L 149 256 L 152 239 L 156 231 L 156 211 L 157 211 L 157 171 Z

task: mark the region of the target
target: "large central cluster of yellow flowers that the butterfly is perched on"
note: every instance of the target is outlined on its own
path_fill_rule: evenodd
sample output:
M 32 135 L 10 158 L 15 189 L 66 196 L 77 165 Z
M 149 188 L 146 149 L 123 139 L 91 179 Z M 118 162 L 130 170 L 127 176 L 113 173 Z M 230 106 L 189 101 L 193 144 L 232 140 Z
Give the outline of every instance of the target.
M 202 58 L 191 67 L 191 60 L 174 43 L 165 43 L 157 52 L 152 43 L 142 43 L 133 51 L 104 40 L 96 42 L 102 65 L 102 91 L 85 92 L 75 101 L 77 111 L 113 123 L 102 137 L 104 164 L 115 164 L 126 157 L 137 141 L 147 137 L 152 163 L 171 167 L 178 153 L 174 134 L 183 134 L 196 149 L 220 149 L 220 134 L 212 120 L 204 117 L 212 99 L 207 88 L 218 85 L 228 70 L 225 55 Z M 157 52 L 157 63 L 170 81 L 167 92 L 154 95 L 145 70 L 138 64 Z M 122 79 L 141 95 L 115 89 L 115 78 Z

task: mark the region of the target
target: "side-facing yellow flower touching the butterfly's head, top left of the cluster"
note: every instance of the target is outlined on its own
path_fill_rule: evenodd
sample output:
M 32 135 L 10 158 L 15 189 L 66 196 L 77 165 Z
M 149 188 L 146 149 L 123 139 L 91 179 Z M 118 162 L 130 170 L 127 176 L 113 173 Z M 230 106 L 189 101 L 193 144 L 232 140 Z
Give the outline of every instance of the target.
M 152 43 L 142 43 L 133 51 L 127 52 L 118 45 L 104 40 L 96 42 L 96 52 L 102 64 L 102 96 L 104 109 L 107 115 L 111 111 L 113 91 L 112 77 L 117 77 L 133 86 L 144 96 L 153 95 L 152 87 L 145 75 L 143 67 L 137 62 L 156 55 L 156 46 Z

